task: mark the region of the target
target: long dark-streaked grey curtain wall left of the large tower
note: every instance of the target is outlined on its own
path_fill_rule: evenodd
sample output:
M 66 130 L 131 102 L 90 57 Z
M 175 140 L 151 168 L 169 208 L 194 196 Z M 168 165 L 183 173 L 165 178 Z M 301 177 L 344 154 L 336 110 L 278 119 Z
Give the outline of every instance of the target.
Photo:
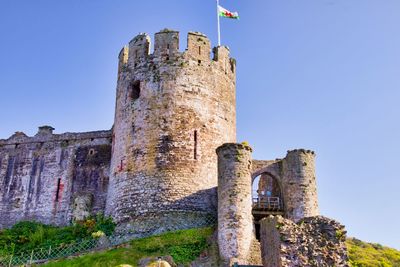
M 92 199 L 89 212 L 104 210 L 111 132 L 52 131 L 0 140 L 0 228 L 21 220 L 68 224 L 80 195 Z

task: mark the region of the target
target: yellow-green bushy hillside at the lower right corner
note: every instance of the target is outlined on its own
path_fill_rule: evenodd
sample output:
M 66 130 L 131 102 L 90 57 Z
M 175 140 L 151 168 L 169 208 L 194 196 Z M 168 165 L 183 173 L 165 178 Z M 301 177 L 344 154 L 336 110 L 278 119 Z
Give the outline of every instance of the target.
M 356 238 L 347 240 L 352 267 L 399 267 L 400 251 L 380 244 L 366 243 Z

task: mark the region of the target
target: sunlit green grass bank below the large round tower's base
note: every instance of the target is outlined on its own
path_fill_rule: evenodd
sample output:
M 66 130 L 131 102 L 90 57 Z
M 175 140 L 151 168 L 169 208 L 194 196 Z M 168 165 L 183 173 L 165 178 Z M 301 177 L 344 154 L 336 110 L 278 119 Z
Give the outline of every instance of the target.
M 207 248 L 207 238 L 213 228 L 200 228 L 166 233 L 163 235 L 136 239 L 127 247 L 91 253 L 74 259 L 65 259 L 46 264 L 47 267 L 72 266 L 117 266 L 130 264 L 137 266 L 142 258 L 152 256 L 173 257 L 175 263 L 188 264 Z

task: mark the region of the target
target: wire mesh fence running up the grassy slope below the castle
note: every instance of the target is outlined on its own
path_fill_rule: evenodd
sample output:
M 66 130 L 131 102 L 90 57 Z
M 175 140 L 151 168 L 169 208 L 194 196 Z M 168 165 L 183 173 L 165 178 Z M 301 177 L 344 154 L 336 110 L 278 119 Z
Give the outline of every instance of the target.
M 169 231 L 177 231 L 191 228 L 201 228 L 214 226 L 217 223 L 215 216 L 204 214 L 206 220 L 201 224 L 195 225 L 176 225 Z M 94 250 L 104 250 L 114 246 L 127 243 L 137 238 L 149 237 L 152 235 L 160 234 L 157 231 L 148 231 L 147 233 L 138 233 L 134 229 L 127 229 L 125 231 L 116 232 L 111 236 L 103 236 L 100 238 L 83 239 L 70 244 L 63 244 L 57 247 L 42 247 L 34 250 L 22 251 L 12 255 L 0 255 L 0 266 L 11 267 L 21 265 L 42 264 L 50 260 L 66 258 L 84 254 Z

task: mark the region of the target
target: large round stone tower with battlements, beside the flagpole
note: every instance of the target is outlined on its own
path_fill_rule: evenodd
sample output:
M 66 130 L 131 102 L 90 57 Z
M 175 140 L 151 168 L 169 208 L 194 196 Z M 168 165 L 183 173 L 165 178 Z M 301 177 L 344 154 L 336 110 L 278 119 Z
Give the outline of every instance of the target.
M 226 47 L 163 30 L 119 56 L 106 213 L 139 231 L 176 229 L 216 213 L 215 149 L 236 141 L 235 61 Z M 197 215 L 196 215 L 197 214 Z M 204 216 L 200 216 L 204 218 Z

